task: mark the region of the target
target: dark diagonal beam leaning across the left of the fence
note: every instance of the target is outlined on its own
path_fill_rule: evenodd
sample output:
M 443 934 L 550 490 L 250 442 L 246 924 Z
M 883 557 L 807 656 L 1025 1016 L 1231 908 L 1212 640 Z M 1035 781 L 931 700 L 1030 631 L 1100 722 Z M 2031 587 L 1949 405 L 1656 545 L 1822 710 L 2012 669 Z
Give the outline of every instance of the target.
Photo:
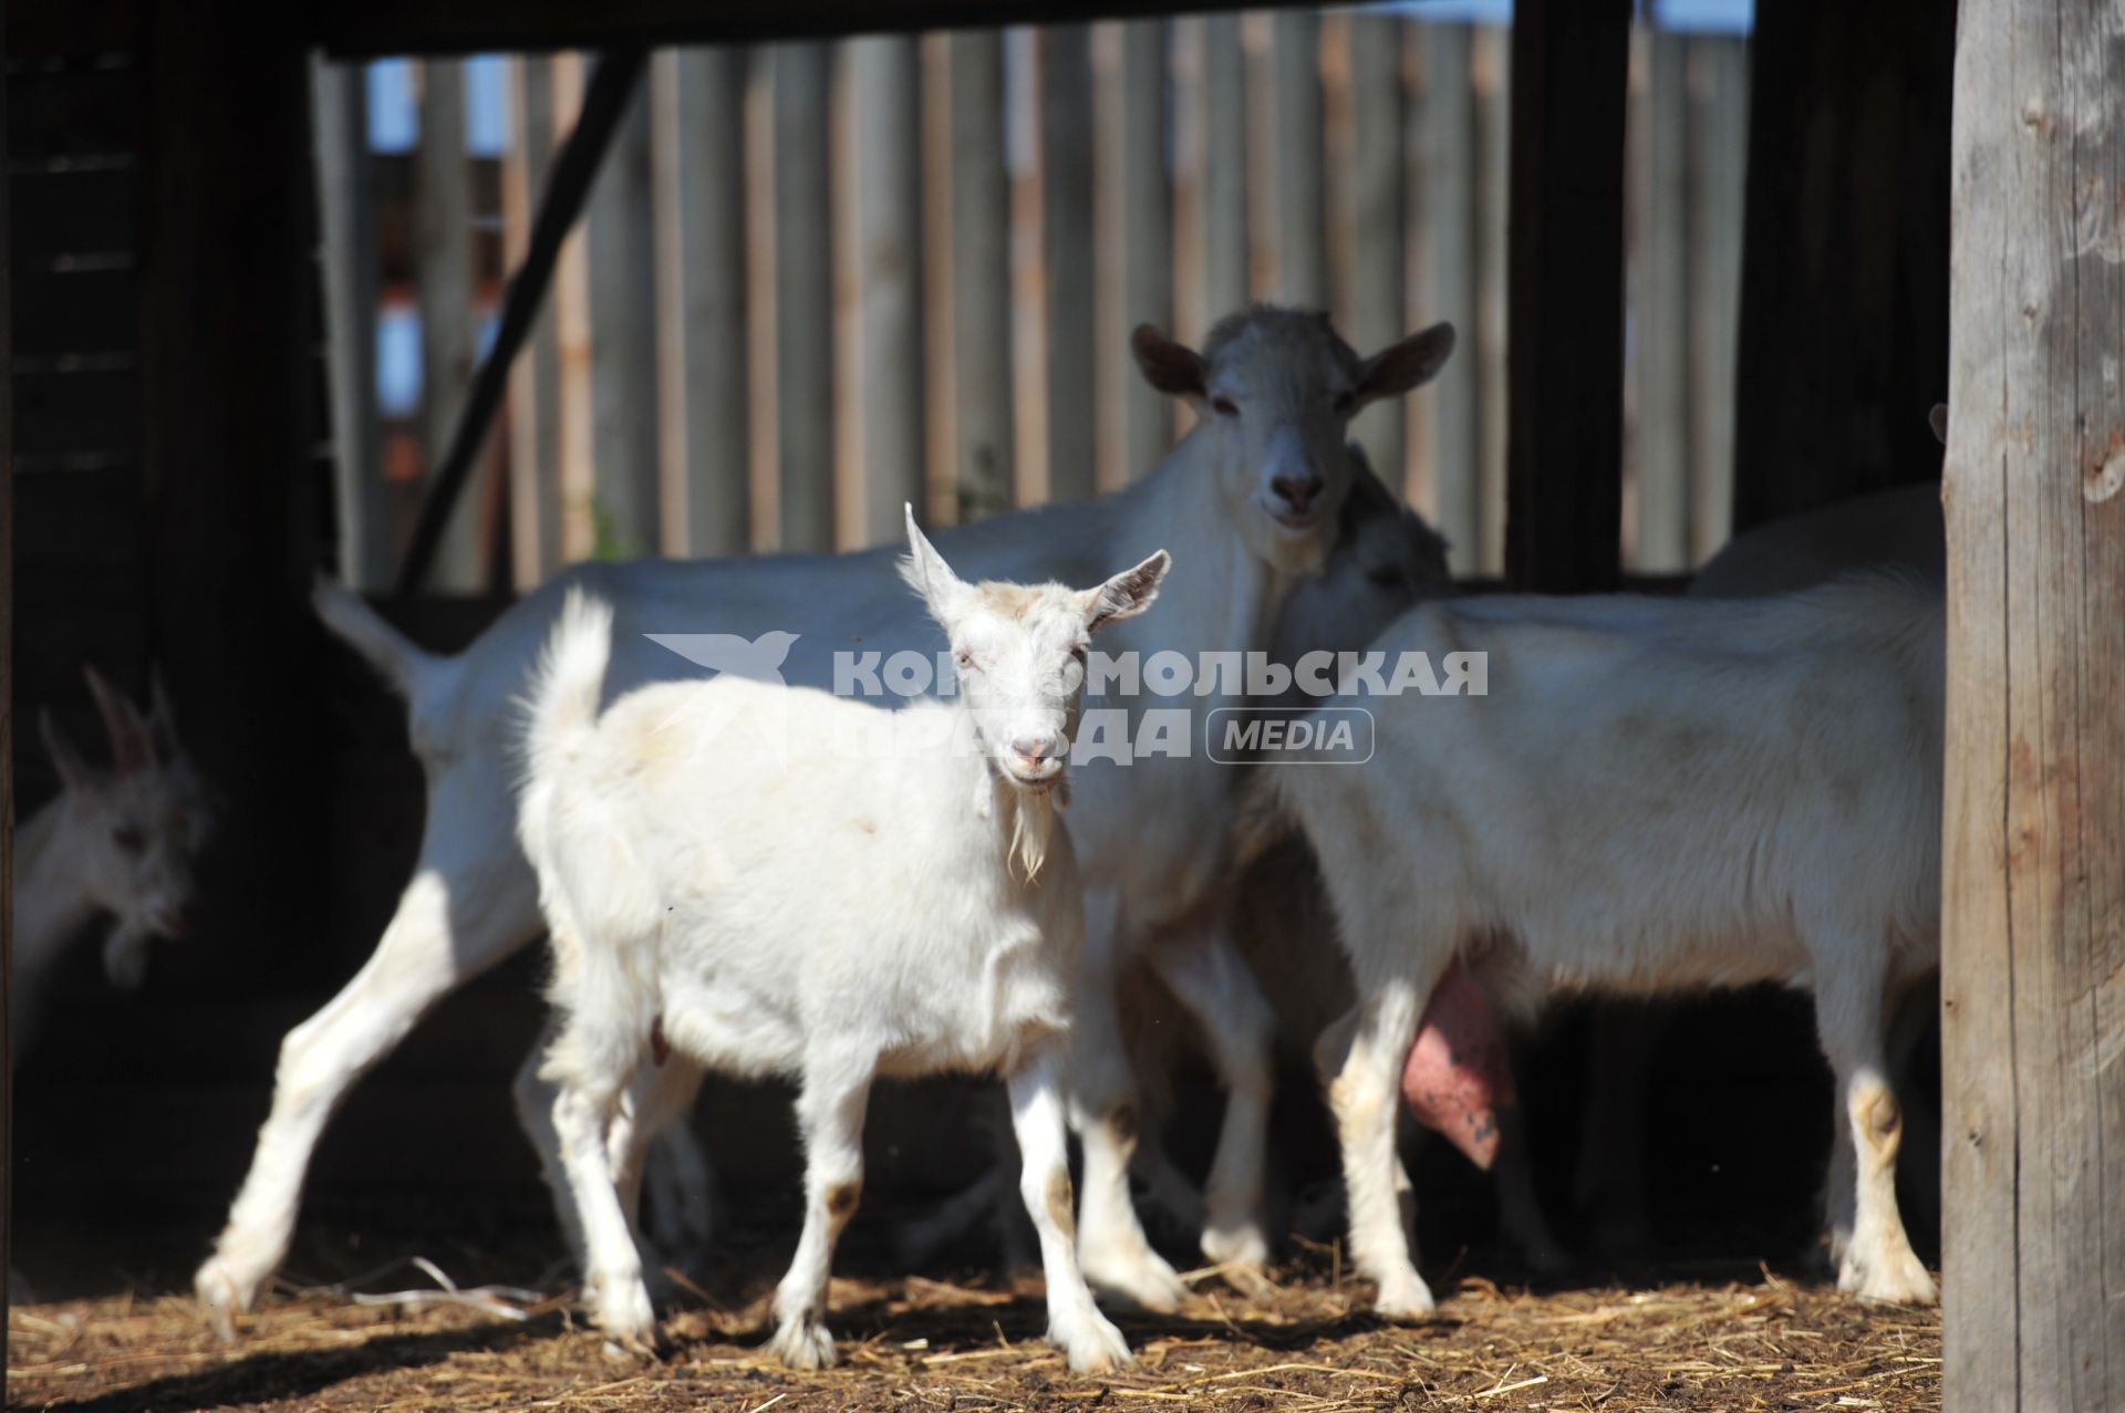
M 406 563 L 400 565 L 397 593 L 414 593 L 427 582 L 450 506 L 472 476 L 474 455 L 487 440 L 495 408 L 502 404 L 502 391 L 508 387 L 510 363 L 531 334 L 540 300 L 546 297 L 561 242 L 582 212 L 591 181 L 597 176 L 606 147 L 627 113 L 627 102 L 646 64 L 648 55 L 642 49 L 616 49 L 599 59 L 597 72 L 591 76 L 582 115 L 552 164 L 552 183 L 540 198 L 538 221 L 531 225 L 531 249 L 525 253 L 523 268 L 510 276 L 510 289 L 502 300 L 495 342 L 472 378 L 472 393 L 468 393 L 465 412 L 450 436 L 450 450 L 421 506 L 421 521 L 414 525 Z

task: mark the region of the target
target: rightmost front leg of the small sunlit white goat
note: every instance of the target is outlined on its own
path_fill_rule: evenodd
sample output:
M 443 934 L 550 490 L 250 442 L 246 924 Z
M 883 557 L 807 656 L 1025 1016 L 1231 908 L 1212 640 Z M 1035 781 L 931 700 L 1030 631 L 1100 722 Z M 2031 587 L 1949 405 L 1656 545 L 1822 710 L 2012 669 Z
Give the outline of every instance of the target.
M 1048 1277 L 1048 1341 L 1062 1347 L 1077 1373 L 1107 1373 L 1128 1362 L 1128 1341 L 1092 1305 L 1077 1269 L 1062 1124 L 1062 1045 L 1037 1045 L 1007 1075 L 1007 1084 L 1012 1130 L 1018 1135 L 1018 1192 L 1041 1237 L 1041 1271 Z

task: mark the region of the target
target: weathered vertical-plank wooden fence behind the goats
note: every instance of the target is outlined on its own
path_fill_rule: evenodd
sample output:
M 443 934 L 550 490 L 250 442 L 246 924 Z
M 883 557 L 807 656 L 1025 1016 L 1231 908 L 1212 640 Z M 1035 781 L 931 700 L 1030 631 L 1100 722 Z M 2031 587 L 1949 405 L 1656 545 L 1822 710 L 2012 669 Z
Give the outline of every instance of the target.
M 434 582 L 852 548 L 895 538 L 903 499 L 950 523 L 1094 495 L 1188 421 L 1137 378 L 1128 329 L 1198 340 L 1247 300 L 1330 308 L 1362 351 L 1456 323 L 1441 380 L 1356 436 L 1460 574 L 1498 574 L 1507 57 L 1502 30 L 1364 11 L 659 53 Z M 374 361 L 374 323 L 342 312 L 427 314 L 419 416 L 334 380 L 357 582 L 402 555 L 584 66 L 508 62 L 497 178 L 429 136 L 463 125 L 457 64 L 421 66 L 395 185 L 363 174 L 361 85 L 319 85 L 336 363 Z M 1738 38 L 1636 36 L 1632 569 L 1685 569 L 1728 529 L 1745 89 Z M 342 266 L 363 249 L 382 257 Z

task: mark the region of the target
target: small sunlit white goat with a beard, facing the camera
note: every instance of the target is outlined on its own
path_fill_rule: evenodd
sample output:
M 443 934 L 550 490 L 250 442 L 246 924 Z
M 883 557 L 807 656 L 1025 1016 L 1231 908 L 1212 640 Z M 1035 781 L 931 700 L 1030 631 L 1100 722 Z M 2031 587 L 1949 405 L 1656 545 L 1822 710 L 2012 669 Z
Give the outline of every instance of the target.
M 912 512 L 907 540 L 903 574 L 950 640 L 956 701 L 882 714 L 725 676 L 644 686 L 599 716 L 612 610 L 580 591 L 531 693 L 518 831 L 563 1011 L 542 1075 L 561 1090 L 591 1307 L 638 1351 L 654 1317 L 612 1130 L 654 1058 L 799 1079 L 805 1220 L 771 1341 L 784 1362 L 833 1362 L 827 1273 L 863 1184 L 871 1082 L 939 1071 L 1009 1086 L 1050 1339 L 1071 1368 L 1128 1360 L 1073 1245 L 1062 1079 L 1084 901 L 1056 805 L 1088 640 L 1150 608 L 1169 559 L 1086 591 L 965 584 Z

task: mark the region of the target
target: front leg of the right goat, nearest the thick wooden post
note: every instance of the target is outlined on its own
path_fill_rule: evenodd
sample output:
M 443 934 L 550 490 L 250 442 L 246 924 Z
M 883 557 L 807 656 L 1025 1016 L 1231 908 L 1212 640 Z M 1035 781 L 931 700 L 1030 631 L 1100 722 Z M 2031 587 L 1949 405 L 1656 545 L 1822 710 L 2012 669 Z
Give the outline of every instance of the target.
M 1896 1207 L 1896 1152 L 1904 1111 L 1889 1084 L 1883 1045 L 1881 948 L 1851 939 L 1815 954 L 1815 1024 L 1838 1082 L 1838 1120 L 1853 1145 L 1851 1241 L 1838 1260 L 1838 1290 L 1866 1300 L 1932 1305 L 1927 1275 Z

